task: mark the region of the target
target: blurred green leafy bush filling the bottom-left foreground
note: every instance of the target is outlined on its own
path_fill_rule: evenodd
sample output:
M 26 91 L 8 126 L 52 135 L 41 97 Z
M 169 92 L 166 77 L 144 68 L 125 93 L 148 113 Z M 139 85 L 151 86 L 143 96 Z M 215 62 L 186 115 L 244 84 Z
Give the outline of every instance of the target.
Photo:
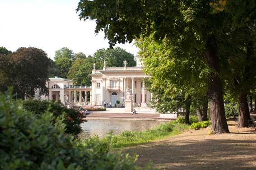
M 65 115 L 47 111 L 37 119 L 22 103 L 0 96 L 1 170 L 138 170 L 135 160 L 92 139 L 82 145 L 64 135 Z M 52 121 L 55 121 L 55 126 Z

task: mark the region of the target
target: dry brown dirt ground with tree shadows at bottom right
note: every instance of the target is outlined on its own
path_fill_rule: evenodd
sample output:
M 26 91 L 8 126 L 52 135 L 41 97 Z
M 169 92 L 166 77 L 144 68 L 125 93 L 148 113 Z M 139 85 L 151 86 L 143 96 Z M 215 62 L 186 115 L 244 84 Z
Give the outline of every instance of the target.
M 236 128 L 228 121 L 230 133 L 207 135 L 210 127 L 189 130 L 171 138 L 126 148 L 139 155 L 136 164 L 144 167 L 149 160 L 166 170 L 256 170 L 256 130 Z

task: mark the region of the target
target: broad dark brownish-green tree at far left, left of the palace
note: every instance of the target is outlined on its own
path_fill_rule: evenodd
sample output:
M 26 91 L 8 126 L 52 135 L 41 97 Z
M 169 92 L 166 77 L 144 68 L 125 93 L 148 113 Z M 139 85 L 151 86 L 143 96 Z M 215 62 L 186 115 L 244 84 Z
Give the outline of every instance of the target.
M 18 98 L 23 98 L 25 92 L 33 96 L 37 88 L 41 88 L 41 94 L 48 93 L 49 64 L 47 54 L 35 47 L 20 47 L 13 53 L 0 55 L 0 91 L 13 86 Z

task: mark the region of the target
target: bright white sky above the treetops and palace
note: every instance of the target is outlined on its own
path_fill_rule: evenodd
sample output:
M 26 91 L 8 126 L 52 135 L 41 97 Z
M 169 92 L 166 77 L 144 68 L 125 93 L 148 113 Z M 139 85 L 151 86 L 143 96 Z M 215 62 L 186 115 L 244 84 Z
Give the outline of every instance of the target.
M 0 0 L 0 46 L 9 51 L 37 47 L 51 59 L 62 47 L 93 55 L 109 47 L 104 33 L 94 33 L 95 21 L 80 21 L 75 9 L 80 0 Z M 133 55 L 132 44 L 117 44 Z

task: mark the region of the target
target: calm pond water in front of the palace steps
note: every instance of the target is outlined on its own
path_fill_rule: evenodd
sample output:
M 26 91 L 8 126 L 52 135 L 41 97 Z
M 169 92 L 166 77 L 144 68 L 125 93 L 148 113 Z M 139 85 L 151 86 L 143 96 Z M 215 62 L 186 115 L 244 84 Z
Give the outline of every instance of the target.
M 94 137 L 94 133 L 100 137 L 107 136 L 107 132 L 113 131 L 113 134 L 121 134 L 124 130 L 143 131 L 154 128 L 156 125 L 165 123 L 159 121 L 144 120 L 109 120 L 109 119 L 87 119 L 86 123 L 81 124 L 83 132 L 80 138 Z

